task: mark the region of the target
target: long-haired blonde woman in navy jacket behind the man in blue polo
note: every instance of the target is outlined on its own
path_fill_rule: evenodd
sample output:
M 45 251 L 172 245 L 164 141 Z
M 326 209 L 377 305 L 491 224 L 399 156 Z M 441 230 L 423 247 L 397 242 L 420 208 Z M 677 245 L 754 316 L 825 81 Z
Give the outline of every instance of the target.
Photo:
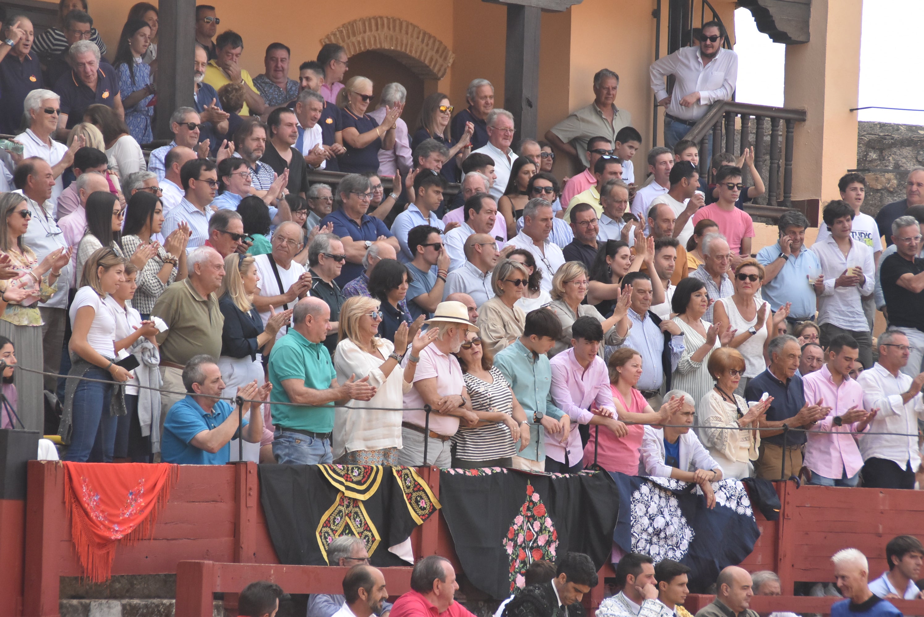
M 225 396 L 235 396 L 238 388 L 253 381 L 257 385 L 263 384 L 262 356 L 269 356 L 276 342 L 276 333 L 292 319 L 292 309 L 277 313 L 270 307 L 271 317 L 263 327 L 260 313 L 252 302 L 254 294 L 258 293 L 259 283 L 260 274 L 252 255 L 232 253 L 225 258 L 225 276 L 218 288 L 218 308 L 225 316 L 222 354 L 218 357 L 218 368 L 225 381 Z M 263 416 L 261 444 L 258 446 L 244 440 L 244 460 L 260 461 L 263 448 L 267 449 L 268 455 L 264 460 L 274 460 L 272 422 L 267 424 L 268 414 Z M 231 454 L 232 460 L 237 460 L 234 458 L 237 447 L 231 448 Z

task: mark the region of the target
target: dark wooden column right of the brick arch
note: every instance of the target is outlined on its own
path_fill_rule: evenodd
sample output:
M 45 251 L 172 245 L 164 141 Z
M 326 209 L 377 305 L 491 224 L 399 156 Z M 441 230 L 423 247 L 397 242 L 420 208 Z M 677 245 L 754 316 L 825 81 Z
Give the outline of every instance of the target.
M 538 130 L 541 18 L 538 6 L 507 5 L 504 108 L 514 115 L 515 144 Z

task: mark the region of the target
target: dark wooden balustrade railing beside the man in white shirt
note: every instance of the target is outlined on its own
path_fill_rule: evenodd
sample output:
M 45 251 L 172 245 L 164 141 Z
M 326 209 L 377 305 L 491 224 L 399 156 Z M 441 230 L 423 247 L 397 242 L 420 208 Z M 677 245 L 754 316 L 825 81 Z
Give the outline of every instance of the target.
M 750 119 L 754 116 L 754 137 L 751 139 Z M 763 165 L 767 152 L 764 148 L 766 127 L 764 120 L 770 118 L 770 168 L 766 179 L 767 205 L 793 207 L 793 135 L 796 122 L 806 121 L 803 109 L 770 107 L 750 103 L 722 101 L 714 103 L 706 115 L 687 131 L 685 139 L 699 143 L 699 175 L 708 175 L 711 161 L 708 159 L 709 136 L 712 136 L 712 153 L 720 151 L 736 154 L 736 118 L 741 119 L 740 154 L 745 148 L 754 146 L 754 166 Z M 785 123 L 785 133 L 783 133 Z M 723 145 L 724 132 L 724 145 Z M 780 156 L 780 142 L 783 138 L 783 156 Z M 782 168 L 781 168 L 782 163 Z M 780 174 L 783 174 L 783 199 L 779 199 Z

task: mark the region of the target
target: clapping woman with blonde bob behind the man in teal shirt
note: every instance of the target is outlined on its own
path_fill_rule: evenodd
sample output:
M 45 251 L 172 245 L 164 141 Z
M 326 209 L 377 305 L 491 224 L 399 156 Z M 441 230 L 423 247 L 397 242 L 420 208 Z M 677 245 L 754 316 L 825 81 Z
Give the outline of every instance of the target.
M 600 321 L 603 327 L 604 345 L 617 346 L 626 342 L 626 335 L 631 327 L 626 319 L 631 291 L 622 293 L 616 302 L 613 315 L 604 318 L 595 307 L 582 304 L 584 297 L 587 296 L 587 287 L 587 268 L 580 261 L 567 261 L 558 269 L 558 272 L 555 272 L 552 279 L 553 300 L 549 308 L 553 309 L 559 321 L 562 322 L 562 337 L 555 341 L 549 357 L 554 357 L 571 346 L 571 326 L 578 317 L 592 317 Z M 600 345 L 601 357 L 602 353 L 603 345 Z

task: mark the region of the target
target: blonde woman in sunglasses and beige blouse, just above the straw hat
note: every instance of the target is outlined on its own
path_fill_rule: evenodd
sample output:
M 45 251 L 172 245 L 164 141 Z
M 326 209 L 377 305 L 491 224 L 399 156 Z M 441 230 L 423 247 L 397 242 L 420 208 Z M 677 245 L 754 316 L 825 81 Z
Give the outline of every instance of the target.
M 514 260 L 500 260 L 491 275 L 495 296 L 478 309 L 476 325 L 481 332 L 481 344 L 492 356 L 516 341 L 526 326 L 526 312 L 517 307 L 529 284 L 529 270 Z

